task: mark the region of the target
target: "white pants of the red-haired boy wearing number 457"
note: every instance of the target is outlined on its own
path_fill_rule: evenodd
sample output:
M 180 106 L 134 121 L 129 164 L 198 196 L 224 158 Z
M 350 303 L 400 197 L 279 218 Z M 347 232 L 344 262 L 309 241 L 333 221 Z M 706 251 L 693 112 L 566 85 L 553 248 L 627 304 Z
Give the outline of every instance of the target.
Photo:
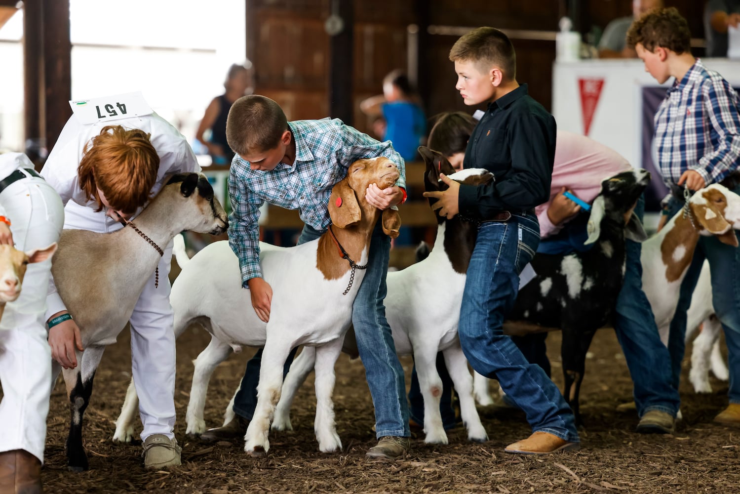
M 123 228 L 118 221 L 105 216 L 104 211 L 95 213 L 89 207 L 71 201 L 64 213 L 64 228 L 98 233 Z M 132 221 L 135 223 L 136 218 Z M 153 247 L 142 238 L 141 248 Z M 142 441 L 151 434 L 175 437 L 175 332 L 172 328 L 174 313 L 169 305 L 171 286 L 167 276 L 172 263 L 172 242 L 163 250 L 164 256 L 159 261 L 159 287 L 155 288 L 155 274 L 152 273 L 130 319 L 132 375 L 144 424 Z

